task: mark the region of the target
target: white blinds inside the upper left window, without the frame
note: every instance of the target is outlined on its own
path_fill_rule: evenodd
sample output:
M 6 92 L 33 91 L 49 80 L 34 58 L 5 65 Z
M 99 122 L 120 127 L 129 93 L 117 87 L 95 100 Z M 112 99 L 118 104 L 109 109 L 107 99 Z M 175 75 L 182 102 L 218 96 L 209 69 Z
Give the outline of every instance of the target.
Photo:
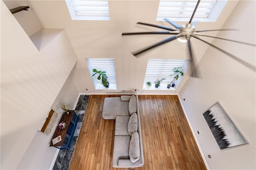
M 108 0 L 72 0 L 77 16 L 109 17 Z

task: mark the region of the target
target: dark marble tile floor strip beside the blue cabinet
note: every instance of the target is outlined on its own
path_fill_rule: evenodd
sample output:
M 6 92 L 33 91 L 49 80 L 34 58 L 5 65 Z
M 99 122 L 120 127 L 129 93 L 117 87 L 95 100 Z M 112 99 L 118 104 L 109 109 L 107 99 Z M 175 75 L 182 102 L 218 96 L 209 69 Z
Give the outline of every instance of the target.
M 74 149 L 76 147 L 76 141 L 78 139 L 79 132 L 82 126 L 82 121 L 84 119 L 84 114 L 89 101 L 89 97 L 90 95 L 80 95 L 75 109 L 75 112 L 79 117 L 79 120 L 76 126 L 76 131 L 74 132 L 74 137 L 72 139 L 70 149 L 60 149 L 60 152 L 57 156 L 57 159 L 52 170 L 68 170 Z

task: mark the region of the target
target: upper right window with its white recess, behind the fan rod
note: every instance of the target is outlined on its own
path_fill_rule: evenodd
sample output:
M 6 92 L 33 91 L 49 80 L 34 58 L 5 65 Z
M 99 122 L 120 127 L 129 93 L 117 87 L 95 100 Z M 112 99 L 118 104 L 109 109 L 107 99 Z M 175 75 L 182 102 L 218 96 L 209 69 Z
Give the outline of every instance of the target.
M 172 21 L 188 22 L 198 0 L 160 0 L 156 20 L 169 18 Z M 215 22 L 227 0 L 201 0 L 193 21 Z

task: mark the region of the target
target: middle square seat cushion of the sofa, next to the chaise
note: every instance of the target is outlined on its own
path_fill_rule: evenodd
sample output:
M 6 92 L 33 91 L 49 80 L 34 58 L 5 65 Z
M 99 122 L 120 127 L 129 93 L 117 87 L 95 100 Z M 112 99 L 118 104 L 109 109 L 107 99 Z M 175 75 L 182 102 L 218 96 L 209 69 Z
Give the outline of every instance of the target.
M 116 116 L 115 135 L 129 135 L 127 129 L 129 120 L 130 116 Z

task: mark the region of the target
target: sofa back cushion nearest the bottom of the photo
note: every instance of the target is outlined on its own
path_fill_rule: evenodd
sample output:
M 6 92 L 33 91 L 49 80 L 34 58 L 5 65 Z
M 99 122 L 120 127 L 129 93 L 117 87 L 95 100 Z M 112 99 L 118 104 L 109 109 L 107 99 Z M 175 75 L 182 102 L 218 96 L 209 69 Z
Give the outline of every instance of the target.
M 140 139 L 138 132 L 133 132 L 129 146 L 129 156 L 131 162 L 136 162 L 140 158 Z

